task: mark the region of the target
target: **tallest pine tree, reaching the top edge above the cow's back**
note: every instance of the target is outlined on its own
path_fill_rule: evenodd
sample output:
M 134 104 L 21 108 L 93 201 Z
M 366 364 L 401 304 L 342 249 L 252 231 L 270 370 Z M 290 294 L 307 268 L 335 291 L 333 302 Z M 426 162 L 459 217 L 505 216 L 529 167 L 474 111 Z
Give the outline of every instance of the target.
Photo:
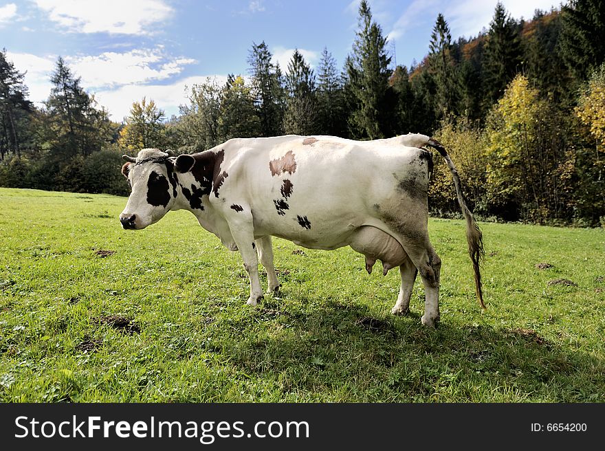
M 390 63 L 382 29 L 372 20 L 368 2 L 362 0 L 353 55 L 347 58 L 346 66 L 355 102 L 349 119 L 355 137 L 373 140 L 391 132 L 394 105 L 390 104 L 393 96 L 387 94 Z

